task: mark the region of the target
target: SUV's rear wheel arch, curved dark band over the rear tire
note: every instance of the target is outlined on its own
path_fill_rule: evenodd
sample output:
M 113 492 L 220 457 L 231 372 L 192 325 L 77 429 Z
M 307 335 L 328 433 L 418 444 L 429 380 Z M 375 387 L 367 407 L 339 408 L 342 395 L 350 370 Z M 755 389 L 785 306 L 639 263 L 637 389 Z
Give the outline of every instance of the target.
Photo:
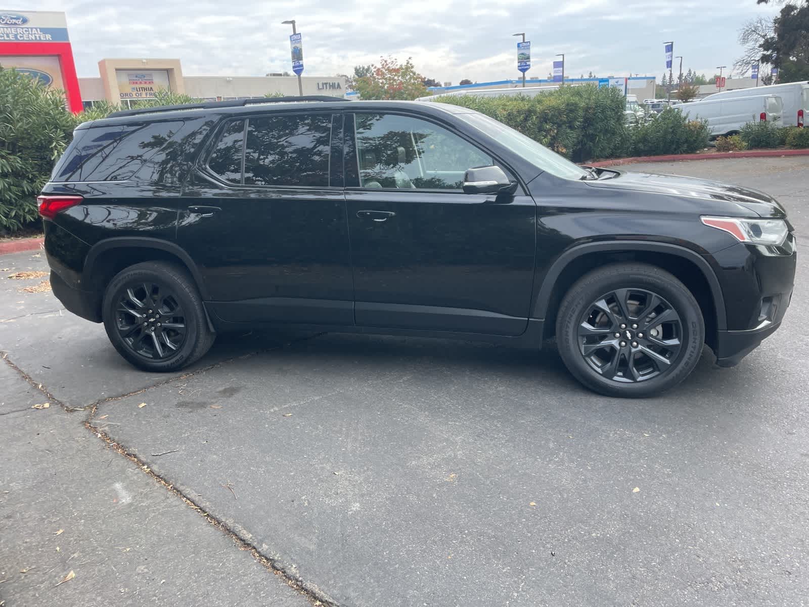
M 90 248 L 84 261 L 83 282 L 94 291 L 103 290 L 112 277 L 141 261 L 174 261 L 191 274 L 202 299 L 208 299 L 205 281 L 197 264 L 178 244 L 146 236 L 117 236 Z

